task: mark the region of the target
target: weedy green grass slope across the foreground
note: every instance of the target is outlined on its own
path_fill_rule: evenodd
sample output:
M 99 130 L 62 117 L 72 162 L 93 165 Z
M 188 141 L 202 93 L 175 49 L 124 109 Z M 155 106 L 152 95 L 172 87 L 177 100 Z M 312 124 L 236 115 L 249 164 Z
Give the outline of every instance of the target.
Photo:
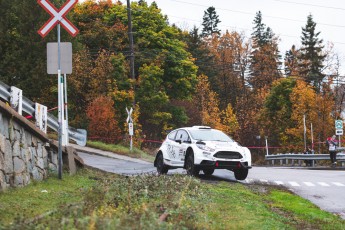
M 345 229 L 345 221 L 276 187 L 83 169 L 0 193 L 0 229 Z

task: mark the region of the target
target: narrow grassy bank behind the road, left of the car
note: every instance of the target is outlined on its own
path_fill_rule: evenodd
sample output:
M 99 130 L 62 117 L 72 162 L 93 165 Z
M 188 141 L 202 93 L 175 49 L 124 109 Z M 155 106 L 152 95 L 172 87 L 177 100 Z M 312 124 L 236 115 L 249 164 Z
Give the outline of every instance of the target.
M 123 146 L 123 145 L 115 145 L 115 144 L 106 144 L 103 142 L 99 141 L 87 141 L 87 146 L 96 148 L 96 149 L 101 149 L 104 151 L 109 151 L 109 152 L 114 152 L 117 154 L 122 154 L 126 155 L 129 157 L 134 157 L 134 158 L 141 158 L 143 160 L 147 160 L 150 162 L 154 161 L 154 156 L 133 147 L 132 151 L 130 151 L 129 146 Z

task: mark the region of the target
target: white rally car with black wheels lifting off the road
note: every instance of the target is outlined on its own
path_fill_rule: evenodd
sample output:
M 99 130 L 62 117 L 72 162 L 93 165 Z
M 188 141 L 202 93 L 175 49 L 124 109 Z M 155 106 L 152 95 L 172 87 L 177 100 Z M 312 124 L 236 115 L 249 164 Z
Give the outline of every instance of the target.
M 234 172 L 237 180 L 247 178 L 251 164 L 248 148 L 222 131 L 207 126 L 171 131 L 154 161 L 159 174 L 166 174 L 169 169 L 184 168 L 188 175 L 197 176 L 200 170 L 205 175 L 212 175 L 215 169 L 228 169 Z

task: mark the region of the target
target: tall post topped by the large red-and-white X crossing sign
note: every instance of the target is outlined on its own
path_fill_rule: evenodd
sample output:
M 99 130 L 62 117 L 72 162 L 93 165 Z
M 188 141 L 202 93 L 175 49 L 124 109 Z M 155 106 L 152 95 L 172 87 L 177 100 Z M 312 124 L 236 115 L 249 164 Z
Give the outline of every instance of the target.
M 67 127 L 64 122 L 64 79 L 61 75 L 61 47 L 60 47 L 60 24 L 73 37 L 78 34 L 78 29 L 65 17 L 66 14 L 77 4 L 78 0 L 68 0 L 60 9 L 57 9 L 49 0 L 37 0 L 38 4 L 50 14 L 50 19 L 38 30 L 38 34 L 43 38 L 57 25 L 58 33 L 58 177 L 62 178 L 62 132 L 67 135 Z M 49 71 L 48 71 L 49 74 Z M 65 139 L 65 138 L 64 138 Z M 66 144 L 66 141 L 64 142 Z

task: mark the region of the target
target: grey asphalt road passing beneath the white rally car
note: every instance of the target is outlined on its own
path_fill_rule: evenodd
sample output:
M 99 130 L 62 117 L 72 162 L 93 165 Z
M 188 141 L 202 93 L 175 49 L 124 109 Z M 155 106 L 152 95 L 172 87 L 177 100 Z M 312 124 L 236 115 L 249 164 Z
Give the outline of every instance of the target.
M 78 152 L 84 163 L 107 172 L 122 175 L 156 173 L 152 163 L 121 157 L 115 159 Z M 185 170 L 170 170 L 169 173 L 185 173 Z M 216 170 L 211 177 L 200 175 L 203 180 L 223 180 L 234 183 L 260 183 L 284 186 L 295 194 L 310 200 L 321 209 L 336 213 L 345 219 L 345 171 L 312 170 L 306 168 L 253 167 L 245 181 L 237 181 L 228 170 Z

